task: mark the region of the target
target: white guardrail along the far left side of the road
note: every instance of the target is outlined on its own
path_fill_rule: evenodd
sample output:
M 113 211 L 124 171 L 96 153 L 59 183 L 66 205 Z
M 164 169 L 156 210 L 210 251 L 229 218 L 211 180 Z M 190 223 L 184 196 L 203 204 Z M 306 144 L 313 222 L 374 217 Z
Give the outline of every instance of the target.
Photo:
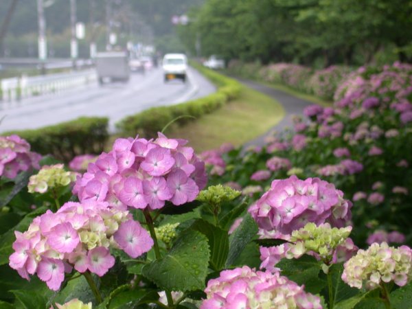
M 22 76 L 21 78 L 5 78 L 0 84 L 0 100 L 12 102 L 24 98 L 57 93 L 85 84 L 96 82 L 98 79 L 94 69 L 56 73 L 47 76 Z

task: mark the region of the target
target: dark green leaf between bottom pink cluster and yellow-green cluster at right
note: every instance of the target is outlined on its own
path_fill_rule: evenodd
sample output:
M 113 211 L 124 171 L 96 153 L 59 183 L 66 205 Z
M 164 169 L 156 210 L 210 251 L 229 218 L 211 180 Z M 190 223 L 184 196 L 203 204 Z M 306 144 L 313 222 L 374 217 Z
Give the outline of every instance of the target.
M 312 256 L 303 255 L 299 259 L 284 258 L 276 266 L 281 269 L 282 275 L 299 285 L 304 284 L 306 292 L 317 294 L 326 286 L 325 280 L 319 278 L 321 265 Z

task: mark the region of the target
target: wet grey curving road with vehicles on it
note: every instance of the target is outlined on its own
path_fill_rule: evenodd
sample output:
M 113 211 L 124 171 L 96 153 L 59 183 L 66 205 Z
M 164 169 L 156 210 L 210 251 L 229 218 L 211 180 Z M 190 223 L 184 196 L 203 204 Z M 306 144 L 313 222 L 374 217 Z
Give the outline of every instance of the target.
M 145 75 L 132 74 L 127 84 L 89 84 L 52 95 L 20 102 L 0 102 L 0 132 L 41 128 L 80 116 L 109 117 L 111 132 L 115 122 L 154 106 L 178 104 L 216 91 L 209 80 L 190 68 L 186 83 L 163 82 L 163 71 L 152 69 Z

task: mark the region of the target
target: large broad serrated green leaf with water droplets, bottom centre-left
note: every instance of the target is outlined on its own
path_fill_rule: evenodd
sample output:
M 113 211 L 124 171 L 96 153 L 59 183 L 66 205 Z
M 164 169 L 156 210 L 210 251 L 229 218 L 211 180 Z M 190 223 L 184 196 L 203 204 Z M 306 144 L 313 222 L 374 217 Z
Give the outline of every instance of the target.
M 206 236 L 188 231 L 176 240 L 168 255 L 144 266 L 143 275 L 165 290 L 203 289 L 209 257 Z

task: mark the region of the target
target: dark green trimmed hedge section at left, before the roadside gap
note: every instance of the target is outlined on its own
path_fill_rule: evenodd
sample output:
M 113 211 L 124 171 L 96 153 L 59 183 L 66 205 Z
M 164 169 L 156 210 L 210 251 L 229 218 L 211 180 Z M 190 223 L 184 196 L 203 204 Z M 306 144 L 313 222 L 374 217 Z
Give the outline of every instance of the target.
M 108 141 L 108 118 L 80 117 L 54 126 L 36 130 L 3 133 L 16 134 L 26 139 L 32 150 L 42 155 L 53 155 L 68 162 L 76 155 L 100 154 Z

